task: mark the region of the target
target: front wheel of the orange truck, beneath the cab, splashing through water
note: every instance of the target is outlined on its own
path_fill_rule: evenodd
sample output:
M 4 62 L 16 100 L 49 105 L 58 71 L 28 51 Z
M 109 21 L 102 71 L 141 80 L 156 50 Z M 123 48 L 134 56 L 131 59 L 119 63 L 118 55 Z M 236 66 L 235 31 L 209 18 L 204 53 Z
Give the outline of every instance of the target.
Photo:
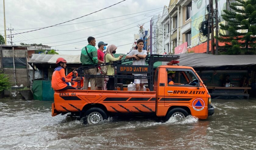
M 188 112 L 183 108 L 173 108 L 167 113 L 165 121 L 168 121 L 171 117 L 174 117 L 176 120 L 182 120 L 187 116 Z

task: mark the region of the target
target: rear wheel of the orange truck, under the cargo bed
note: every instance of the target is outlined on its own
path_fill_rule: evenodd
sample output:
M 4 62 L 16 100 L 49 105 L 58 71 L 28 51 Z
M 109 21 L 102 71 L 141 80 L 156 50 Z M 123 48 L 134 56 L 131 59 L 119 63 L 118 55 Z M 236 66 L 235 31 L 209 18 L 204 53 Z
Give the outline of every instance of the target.
M 100 108 L 90 108 L 85 112 L 84 123 L 98 124 L 103 120 L 108 119 L 107 114 Z

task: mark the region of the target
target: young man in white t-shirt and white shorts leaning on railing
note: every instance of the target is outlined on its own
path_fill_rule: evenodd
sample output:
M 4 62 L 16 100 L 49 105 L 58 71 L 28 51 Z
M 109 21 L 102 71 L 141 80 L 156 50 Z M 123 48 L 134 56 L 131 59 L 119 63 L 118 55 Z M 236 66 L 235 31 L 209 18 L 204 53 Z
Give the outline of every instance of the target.
M 133 61 L 133 65 L 145 65 L 145 58 L 147 57 L 147 51 L 143 50 L 144 41 L 142 39 L 137 40 L 138 50 L 133 50 L 126 55 L 125 59 L 135 58 L 137 60 Z M 147 76 L 147 74 L 133 73 L 135 76 Z M 136 91 L 143 91 L 144 83 L 148 83 L 147 78 L 134 79 L 136 85 Z

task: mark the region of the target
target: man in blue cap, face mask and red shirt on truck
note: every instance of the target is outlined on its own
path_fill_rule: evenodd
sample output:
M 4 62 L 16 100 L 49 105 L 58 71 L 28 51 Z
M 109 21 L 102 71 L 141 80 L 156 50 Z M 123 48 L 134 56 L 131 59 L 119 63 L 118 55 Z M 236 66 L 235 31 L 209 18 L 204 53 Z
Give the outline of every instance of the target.
M 106 45 L 108 45 L 108 44 L 104 43 L 102 41 L 100 41 L 98 43 L 99 49 L 98 49 L 97 52 L 98 52 L 98 63 L 99 64 L 104 63 L 104 59 L 103 59 L 104 58 L 104 53 L 103 53 L 103 51 L 107 49 Z M 101 74 L 100 69 L 101 68 L 99 67 L 98 74 Z M 104 87 L 104 78 L 97 78 L 97 89 L 98 90 L 102 90 L 102 87 Z

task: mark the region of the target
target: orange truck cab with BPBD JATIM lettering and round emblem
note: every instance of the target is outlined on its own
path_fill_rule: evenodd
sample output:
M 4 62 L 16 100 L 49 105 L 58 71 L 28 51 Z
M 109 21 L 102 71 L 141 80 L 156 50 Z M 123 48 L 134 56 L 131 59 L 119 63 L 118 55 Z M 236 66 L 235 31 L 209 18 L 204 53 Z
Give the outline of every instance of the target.
M 174 74 L 172 83 L 168 82 L 168 73 Z M 174 108 L 181 108 L 186 114 L 199 119 L 206 119 L 214 113 L 214 108 L 210 105 L 211 96 L 192 67 L 159 66 L 155 72 L 154 91 L 158 99 L 157 116 L 166 116 Z M 182 119 L 186 115 L 181 112 L 172 114 L 172 117 L 175 116 Z

